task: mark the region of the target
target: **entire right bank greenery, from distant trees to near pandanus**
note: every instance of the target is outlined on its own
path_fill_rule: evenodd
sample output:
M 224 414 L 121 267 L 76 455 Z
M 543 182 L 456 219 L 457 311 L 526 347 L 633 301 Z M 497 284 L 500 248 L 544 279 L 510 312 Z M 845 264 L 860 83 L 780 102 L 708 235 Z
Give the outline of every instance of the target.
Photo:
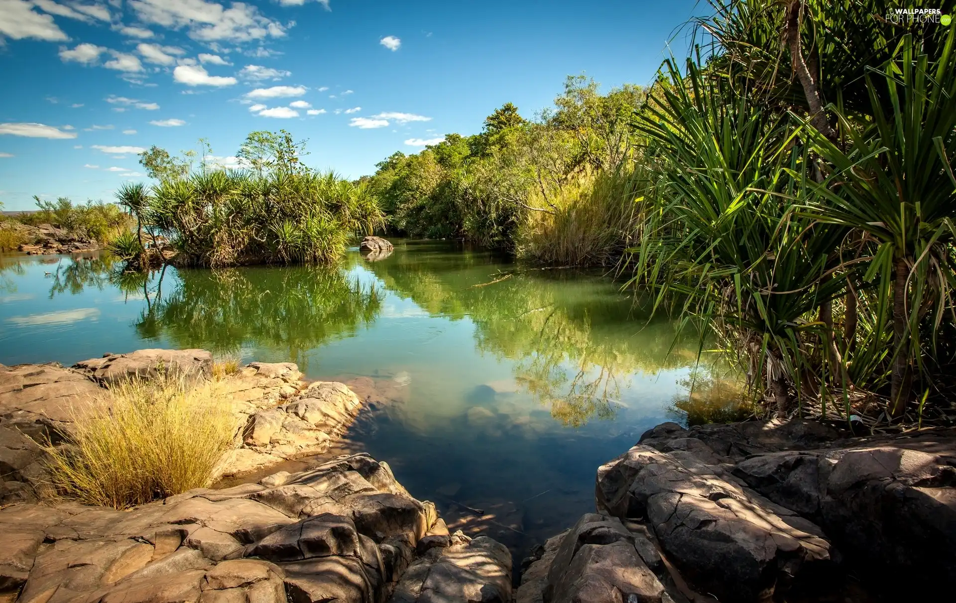
M 381 162 L 387 224 L 613 266 L 779 413 L 949 421 L 956 30 L 887 0 L 711 8 L 647 88 L 572 77 Z

